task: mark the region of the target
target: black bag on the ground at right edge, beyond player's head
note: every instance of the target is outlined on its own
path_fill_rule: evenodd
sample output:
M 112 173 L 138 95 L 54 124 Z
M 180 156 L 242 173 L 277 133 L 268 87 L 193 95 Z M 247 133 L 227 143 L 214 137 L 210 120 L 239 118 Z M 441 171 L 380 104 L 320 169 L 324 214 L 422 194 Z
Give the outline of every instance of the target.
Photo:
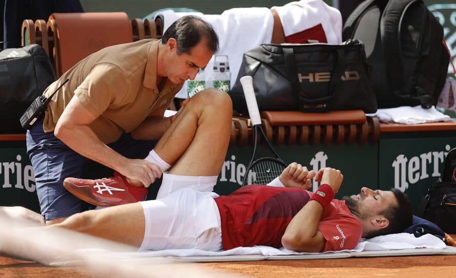
M 425 197 L 423 217 L 446 233 L 456 233 L 456 148 L 448 152 L 443 174 Z

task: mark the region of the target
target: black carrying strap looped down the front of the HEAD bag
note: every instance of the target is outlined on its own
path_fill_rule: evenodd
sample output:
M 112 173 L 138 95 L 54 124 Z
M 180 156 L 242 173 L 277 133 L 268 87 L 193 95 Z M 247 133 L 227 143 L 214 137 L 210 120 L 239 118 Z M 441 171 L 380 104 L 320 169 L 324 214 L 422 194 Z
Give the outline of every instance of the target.
M 347 44 L 347 46 L 350 44 Z M 283 56 L 285 59 L 286 71 L 287 71 L 287 78 L 292 83 L 295 93 L 297 94 L 300 104 L 309 104 L 309 103 L 318 103 L 322 101 L 329 100 L 333 98 L 336 88 L 338 84 L 342 82 L 341 76 L 342 71 L 344 69 L 344 61 L 345 61 L 345 51 L 343 49 L 337 49 L 335 53 L 337 54 L 337 61 L 336 66 L 334 67 L 334 71 L 331 74 L 331 81 L 329 84 L 329 95 L 321 98 L 309 99 L 305 98 L 303 93 L 301 92 L 300 84 L 298 81 L 298 74 L 297 74 L 297 67 L 296 67 L 296 60 L 294 56 L 293 48 L 282 48 Z

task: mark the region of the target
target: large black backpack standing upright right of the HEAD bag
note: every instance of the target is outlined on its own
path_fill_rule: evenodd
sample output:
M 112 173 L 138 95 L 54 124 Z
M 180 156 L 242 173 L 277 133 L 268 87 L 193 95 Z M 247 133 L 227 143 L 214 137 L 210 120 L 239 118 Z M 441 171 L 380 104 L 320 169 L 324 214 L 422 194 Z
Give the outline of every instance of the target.
M 443 27 L 422 0 L 366 0 L 342 36 L 364 43 L 379 108 L 437 104 L 450 56 Z

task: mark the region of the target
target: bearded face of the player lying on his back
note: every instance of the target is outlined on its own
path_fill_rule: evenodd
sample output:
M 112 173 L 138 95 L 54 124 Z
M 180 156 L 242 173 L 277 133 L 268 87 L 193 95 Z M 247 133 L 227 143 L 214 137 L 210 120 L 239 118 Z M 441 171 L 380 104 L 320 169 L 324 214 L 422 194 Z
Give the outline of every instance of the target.
M 379 215 L 390 204 L 398 205 L 391 191 L 372 190 L 367 187 L 361 188 L 360 194 L 346 196 L 342 200 L 345 200 L 345 204 L 359 219 Z

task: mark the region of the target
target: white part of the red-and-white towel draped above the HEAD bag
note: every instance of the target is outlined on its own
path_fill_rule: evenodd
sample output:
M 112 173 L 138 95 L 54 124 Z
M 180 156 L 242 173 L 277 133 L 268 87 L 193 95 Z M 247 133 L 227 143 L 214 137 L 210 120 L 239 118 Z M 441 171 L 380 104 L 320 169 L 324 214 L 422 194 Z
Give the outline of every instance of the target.
M 338 9 L 322 0 L 301 0 L 272 9 L 280 17 L 285 36 L 321 24 L 328 44 L 339 45 L 342 42 L 342 15 Z

